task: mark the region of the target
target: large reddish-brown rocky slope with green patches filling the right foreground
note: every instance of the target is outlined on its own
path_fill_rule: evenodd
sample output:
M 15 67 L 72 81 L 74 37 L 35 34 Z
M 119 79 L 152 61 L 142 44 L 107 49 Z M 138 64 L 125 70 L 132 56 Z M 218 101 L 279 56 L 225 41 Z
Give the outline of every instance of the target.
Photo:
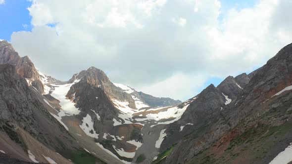
M 292 44 L 289 44 L 248 75 L 251 79 L 241 92 L 231 90 L 233 101 L 209 123 L 185 135 L 165 163 L 271 162 L 291 142 L 292 131 L 288 130 L 292 124 L 291 68 Z M 239 77 L 235 80 L 240 81 Z

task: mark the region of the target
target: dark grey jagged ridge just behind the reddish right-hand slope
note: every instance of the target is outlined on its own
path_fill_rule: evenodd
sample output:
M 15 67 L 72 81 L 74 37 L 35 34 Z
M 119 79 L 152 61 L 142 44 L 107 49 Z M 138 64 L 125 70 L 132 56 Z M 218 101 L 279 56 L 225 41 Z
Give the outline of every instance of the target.
M 211 84 L 195 97 L 182 103 L 181 106 L 190 105 L 179 121 L 166 126 L 168 135 L 162 143 L 161 151 L 169 148 L 186 134 L 209 124 L 214 118 L 220 116 L 221 111 L 228 104 L 234 103 L 240 97 L 243 87 L 249 82 L 246 77 L 246 74 L 239 75 L 236 78 L 229 76 L 217 87 Z

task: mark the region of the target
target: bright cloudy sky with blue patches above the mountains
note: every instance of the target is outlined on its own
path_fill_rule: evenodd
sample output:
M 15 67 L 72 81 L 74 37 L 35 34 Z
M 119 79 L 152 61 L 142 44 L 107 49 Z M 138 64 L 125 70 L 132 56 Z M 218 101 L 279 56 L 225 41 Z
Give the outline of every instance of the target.
M 186 100 L 251 72 L 292 42 L 292 0 L 0 0 L 0 39 L 66 81 L 113 82 Z

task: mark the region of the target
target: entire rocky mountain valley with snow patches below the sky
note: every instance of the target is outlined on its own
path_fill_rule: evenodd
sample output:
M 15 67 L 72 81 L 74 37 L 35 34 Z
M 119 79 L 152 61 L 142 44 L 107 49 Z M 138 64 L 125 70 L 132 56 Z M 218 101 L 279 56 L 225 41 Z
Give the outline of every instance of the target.
M 291 143 L 292 44 L 181 102 L 95 67 L 56 80 L 0 41 L 0 164 L 288 164 Z

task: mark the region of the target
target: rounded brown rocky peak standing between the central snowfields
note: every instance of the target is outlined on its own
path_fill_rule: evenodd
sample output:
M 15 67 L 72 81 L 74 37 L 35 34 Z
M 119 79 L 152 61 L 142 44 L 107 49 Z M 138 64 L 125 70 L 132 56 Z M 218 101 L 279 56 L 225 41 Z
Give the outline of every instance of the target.
M 121 120 L 118 114 L 121 113 L 113 104 L 112 100 L 128 102 L 129 107 L 135 109 L 132 97 L 123 92 L 109 81 L 107 76 L 99 69 L 91 67 L 86 71 L 75 74 L 69 81 L 74 82 L 67 93 L 67 97 L 75 102 L 76 108 L 81 110 L 82 120 L 88 114 L 94 122 L 94 130 L 97 134 L 108 132 L 107 126 L 113 127 L 113 120 Z M 132 105 L 130 105 L 132 104 Z M 124 122 L 121 120 L 121 122 Z M 102 135 L 100 136 L 102 138 Z

